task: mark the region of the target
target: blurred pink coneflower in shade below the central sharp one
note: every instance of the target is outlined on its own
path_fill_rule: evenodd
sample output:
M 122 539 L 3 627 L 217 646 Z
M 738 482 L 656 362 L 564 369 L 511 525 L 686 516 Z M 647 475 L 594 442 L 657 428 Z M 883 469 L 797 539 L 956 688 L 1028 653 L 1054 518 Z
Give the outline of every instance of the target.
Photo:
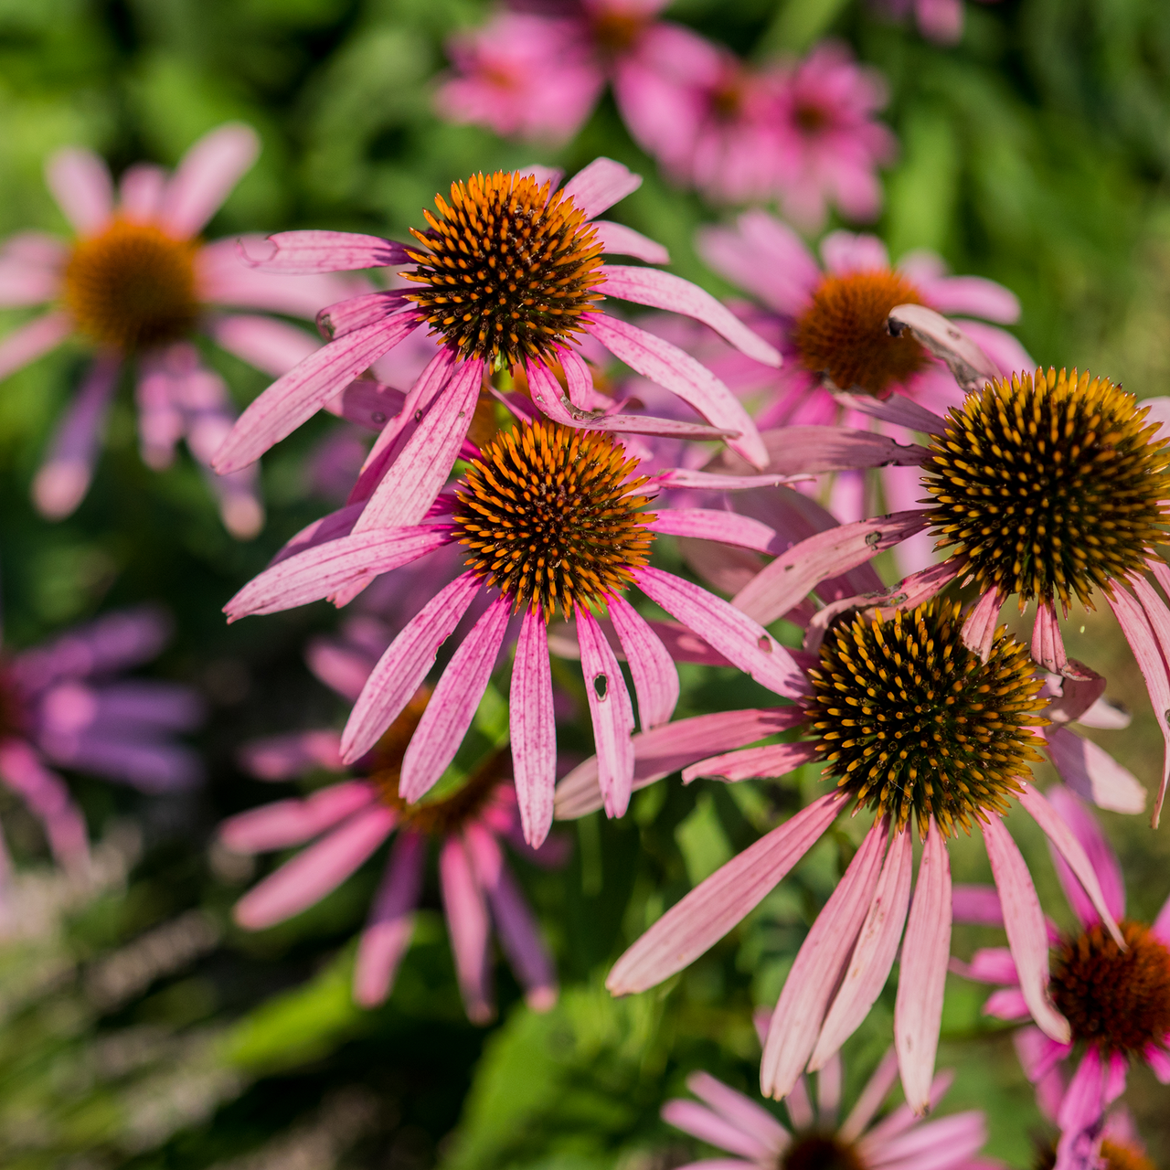
M 507 752 L 480 764 L 453 794 L 407 804 L 398 794 L 402 758 L 424 717 L 429 691 L 415 693 L 378 744 L 362 760 L 362 777 L 319 789 L 310 797 L 277 800 L 232 817 L 221 841 L 236 853 L 266 853 L 318 840 L 284 862 L 248 893 L 235 918 L 249 930 L 283 922 L 319 902 L 358 869 L 395 833 L 381 886 L 362 932 L 353 971 L 353 997 L 365 1007 L 390 994 L 398 965 L 411 943 L 414 910 L 422 889 L 427 841 L 439 846 L 439 879 L 455 970 L 468 1017 L 477 1024 L 494 1014 L 490 991 L 490 928 L 524 986 L 529 1006 L 546 1011 L 557 998 L 557 980 L 532 911 L 508 870 L 500 838 L 535 860 L 544 858 L 518 840 L 516 798 L 505 783 Z M 314 765 L 339 766 L 338 742 L 316 732 L 300 759 L 271 744 L 249 755 L 264 779 L 287 779 Z M 308 748 L 308 742 L 304 744 Z M 330 750 L 332 758 L 330 758 Z

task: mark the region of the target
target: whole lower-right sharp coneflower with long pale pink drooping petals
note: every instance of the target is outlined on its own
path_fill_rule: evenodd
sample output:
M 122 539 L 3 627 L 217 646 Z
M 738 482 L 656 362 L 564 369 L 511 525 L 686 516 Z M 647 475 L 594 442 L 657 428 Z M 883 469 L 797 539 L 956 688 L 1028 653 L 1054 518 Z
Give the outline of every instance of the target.
M 957 605 L 936 600 L 896 611 L 893 620 L 856 617 L 831 626 L 819 662 L 806 670 L 800 701 L 772 715 L 772 731 L 798 731 L 804 738 L 731 751 L 683 771 L 684 780 L 739 780 L 783 776 L 823 760 L 837 791 L 772 830 L 667 911 L 614 965 L 607 980 L 614 994 L 651 987 L 703 954 L 760 902 L 849 800 L 856 811 L 875 814 L 776 1005 L 760 1069 L 765 1095 L 784 1096 L 806 1065 L 823 1067 L 865 1019 L 904 925 L 894 1038 L 907 1100 L 915 1112 L 927 1108 L 950 950 L 947 839 L 959 830 L 978 828 L 986 845 L 1034 1018 L 1046 1034 L 1067 1042 L 1068 1023 L 1048 996 L 1044 916 L 1004 826 L 1012 797 L 1116 930 L 1080 844 L 1023 779 L 1030 762 L 1041 758 L 1042 741 L 1032 729 L 1046 722 L 1039 714 L 1042 681 L 1034 677 L 1026 649 L 1003 627 L 980 659 L 963 646 L 962 625 Z M 727 718 L 742 721 L 742 714 Z M 911 906 L 915 825 L 923 859 Z

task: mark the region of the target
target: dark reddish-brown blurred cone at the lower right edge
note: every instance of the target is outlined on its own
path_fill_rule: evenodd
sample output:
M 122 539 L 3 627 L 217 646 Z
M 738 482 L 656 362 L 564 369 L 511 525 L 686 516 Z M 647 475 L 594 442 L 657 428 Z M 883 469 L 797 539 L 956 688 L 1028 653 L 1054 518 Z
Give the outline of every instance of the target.
M 1126 950 L 1100 923 L 1066 940 L 1051 992 L 1074 1040 L 1140 1057 L 1170 1034 L 1170 949 L 1140 922 L 1122 922 L 1121 934 Z

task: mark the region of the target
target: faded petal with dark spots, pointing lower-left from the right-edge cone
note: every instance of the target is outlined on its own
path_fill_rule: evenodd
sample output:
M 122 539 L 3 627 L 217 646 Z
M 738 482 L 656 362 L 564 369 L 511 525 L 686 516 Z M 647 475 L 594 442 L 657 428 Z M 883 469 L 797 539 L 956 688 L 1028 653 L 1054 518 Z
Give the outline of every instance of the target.
M 732 605 L 759 622 L 772 622 L 826 577 L 866 564 L 925 526 L 925 511 L 904 511 L 818 532 L 777 557 L 732 598 Z

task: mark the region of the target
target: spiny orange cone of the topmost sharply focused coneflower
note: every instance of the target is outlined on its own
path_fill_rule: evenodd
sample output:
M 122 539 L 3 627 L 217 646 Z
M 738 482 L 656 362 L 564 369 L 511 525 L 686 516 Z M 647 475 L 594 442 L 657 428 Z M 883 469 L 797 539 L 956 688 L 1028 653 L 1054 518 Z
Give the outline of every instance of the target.
M 410 298 L 461 357 L 496 369 L 553 357 L 601 300 L 601 243 L 572 197 L 519 172 L 473 174 L 424 212 Z

